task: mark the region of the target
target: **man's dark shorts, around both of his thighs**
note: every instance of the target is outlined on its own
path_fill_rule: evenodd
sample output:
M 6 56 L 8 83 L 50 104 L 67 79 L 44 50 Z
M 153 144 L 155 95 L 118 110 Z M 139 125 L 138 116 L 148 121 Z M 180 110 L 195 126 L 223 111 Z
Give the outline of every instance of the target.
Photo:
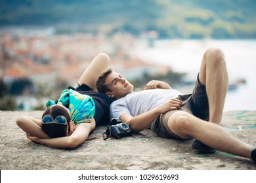
M 208 97 L 205 86 L 200 84 L 199 78 L 196 80 L 196 85 L 192 93 L 179 95 L 177 99 L 182 101 L 181 108 L 178 110 L 170 110 L 164 114 L 161 114 L 158 116 L 158 118 L 156 118 L 154 124 L 152 124 L 153 131 L 155 131 L 159 137 L 163 137 L 165 139 L 182 139 L 178 135 L 175 135 L 171 129 L 169 129 L 167 124 L 169 117 L 174 112 L 182 110 L 184 112 L 193 114 L 202 120 L 209 120 Z

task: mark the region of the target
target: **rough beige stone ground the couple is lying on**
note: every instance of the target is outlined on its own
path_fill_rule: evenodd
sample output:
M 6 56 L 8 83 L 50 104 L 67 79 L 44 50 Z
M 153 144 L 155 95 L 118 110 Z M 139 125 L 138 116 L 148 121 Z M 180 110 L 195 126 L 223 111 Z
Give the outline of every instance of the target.
M 256 163 L 224 152 L 198 154 L 190 141 L 157 137 L 147 129 L 123 139 L 102 139 L 97 127 L 89 140 L 72 150 L 35 144 L 15 123 L 20 115 L 40 118 L 43 111 L 0 111 L 1 170 L 256 170 Z M 238 139 L 256 146 L 256 111 L 223 114 L 223 127 Z

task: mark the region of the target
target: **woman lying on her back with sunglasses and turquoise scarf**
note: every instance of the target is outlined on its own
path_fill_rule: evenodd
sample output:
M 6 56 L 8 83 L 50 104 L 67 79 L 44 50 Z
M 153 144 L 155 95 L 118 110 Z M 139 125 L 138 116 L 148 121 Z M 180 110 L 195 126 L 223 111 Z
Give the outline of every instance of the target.
M 47 101 L 41 120 L 20 116 L 16 124 L 28 139 L 45 146 L 75 148 L 85 142 L 96 125 L 110 122 L 110 104 L 114 100 L 96 90 L 96 80 L 109 63 L 106 54 L 98 54 L 74 88 L 64 90 L 58 101 Z

